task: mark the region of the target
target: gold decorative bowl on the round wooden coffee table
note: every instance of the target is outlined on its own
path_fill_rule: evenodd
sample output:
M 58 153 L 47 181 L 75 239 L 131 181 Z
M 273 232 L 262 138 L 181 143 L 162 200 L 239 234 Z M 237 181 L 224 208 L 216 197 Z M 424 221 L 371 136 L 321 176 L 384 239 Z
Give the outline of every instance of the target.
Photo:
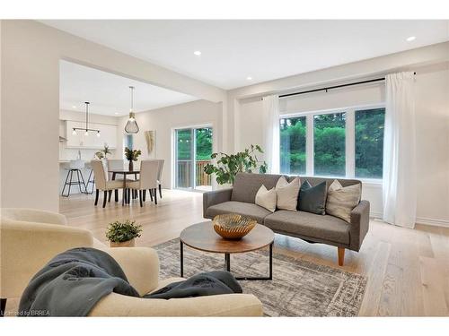
M 218 235 L 225 239 L 237 240 L 246 236 L 256 226 L 257 221 L 236 213 L 226 213 L 216 215 L 212 223 Z

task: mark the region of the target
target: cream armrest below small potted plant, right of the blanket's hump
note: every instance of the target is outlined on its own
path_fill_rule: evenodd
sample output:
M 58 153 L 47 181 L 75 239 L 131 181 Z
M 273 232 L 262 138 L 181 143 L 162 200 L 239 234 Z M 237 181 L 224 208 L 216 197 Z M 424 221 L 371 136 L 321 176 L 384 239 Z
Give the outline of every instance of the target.
M 159 257 L 150 247 L 112 247 L 102 251 L 110 254 L 125 272 L 129 283 L 140 295 L 155 289 L 159 282 Z

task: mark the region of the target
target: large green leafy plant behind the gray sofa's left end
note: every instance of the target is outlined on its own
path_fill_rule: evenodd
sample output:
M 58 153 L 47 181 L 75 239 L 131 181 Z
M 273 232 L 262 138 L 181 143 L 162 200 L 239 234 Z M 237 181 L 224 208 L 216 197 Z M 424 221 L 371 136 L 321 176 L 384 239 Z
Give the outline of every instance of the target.
M 235 176 L 240 172 L 252 173 L 259 168 L 259 173 L 265 174 L 268 168 L 267 162 L 261 162 L 256 152 L 263 153 L 258 144 L 251 144 L 250 148 L 235 154 L 213 153 L 210 159 L 218 158 L 216 164 L 208 163 L 204 171 L 207 175 L 216 174 L 216 182 L 219 185 L 232 185 Z

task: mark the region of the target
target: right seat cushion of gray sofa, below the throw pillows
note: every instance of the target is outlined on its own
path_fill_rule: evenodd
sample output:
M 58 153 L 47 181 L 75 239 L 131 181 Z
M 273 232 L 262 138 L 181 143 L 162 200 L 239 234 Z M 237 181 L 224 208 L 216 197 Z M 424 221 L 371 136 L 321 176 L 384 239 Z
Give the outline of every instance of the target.
M 267 216 L 264 224 L 274 231 L 349 245 L 350 225 L 330 215 L 280 210 Z

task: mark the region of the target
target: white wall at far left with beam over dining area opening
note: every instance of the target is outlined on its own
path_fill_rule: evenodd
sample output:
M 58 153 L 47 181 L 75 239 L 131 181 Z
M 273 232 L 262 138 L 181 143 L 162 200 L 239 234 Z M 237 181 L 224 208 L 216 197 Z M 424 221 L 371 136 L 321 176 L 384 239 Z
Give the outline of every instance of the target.
M 200 99 L 226 98 L 224 90 L 39 22 L 3 21 L 1 34 L 2 207 L 59 208 L 60 59 Z

